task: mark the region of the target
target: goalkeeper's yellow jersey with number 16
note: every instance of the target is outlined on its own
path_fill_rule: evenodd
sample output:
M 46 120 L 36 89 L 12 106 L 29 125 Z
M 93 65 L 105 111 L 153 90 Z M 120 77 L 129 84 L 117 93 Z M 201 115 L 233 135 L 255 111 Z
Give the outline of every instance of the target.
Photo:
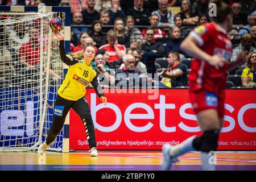
M 97 72 L 92 65 L 86 65 L 83 60 L 72 56 L 68 56 L 68 58 L 75 64 L 69 65 L 68 73 L 58 94 L 67 100 L 77 101 L 85 96 L 86 87 L 96 77 Z

